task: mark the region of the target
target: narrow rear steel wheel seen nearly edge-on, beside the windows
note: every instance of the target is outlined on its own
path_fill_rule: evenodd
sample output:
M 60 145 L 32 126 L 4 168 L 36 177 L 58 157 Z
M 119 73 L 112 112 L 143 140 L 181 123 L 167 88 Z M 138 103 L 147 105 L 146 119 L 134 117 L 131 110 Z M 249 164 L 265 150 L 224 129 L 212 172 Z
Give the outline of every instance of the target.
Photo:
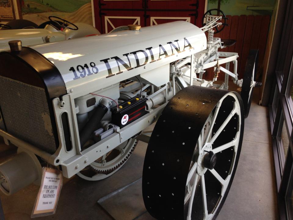
M 245 65 L 241 89 L 241 98 L 243 100 L 245 118 L 247 118 L 249 114 L 254 87 L 261 86 L 258 82 L 255 82 L 258 56 L 259 50 L 250 50 Z

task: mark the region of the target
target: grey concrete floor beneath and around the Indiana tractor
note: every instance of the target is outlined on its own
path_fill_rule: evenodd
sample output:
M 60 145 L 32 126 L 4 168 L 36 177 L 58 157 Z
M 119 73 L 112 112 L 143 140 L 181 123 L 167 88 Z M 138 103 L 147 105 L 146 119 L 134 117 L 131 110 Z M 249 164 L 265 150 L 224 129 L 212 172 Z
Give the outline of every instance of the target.
M 257 105 L 245 119 L 241 156 L 233 184 L 217 220 L 278 219 L 268 110 Z M 152 127 L 152 126 L 151 126 Z M 139 142 L 128 162 L 111 177 L 65 179 L 55 215 L 36 219 L 152 220 L 144 208 L 141 178 L 147 144 Z M 0 162 L 15 148 L 0 142 Z M 30 219 L 39 187 L 29 185 L 12 196 L 0 193 L 5 220 Z M 2 220 L 2 219 L 1 219 Z

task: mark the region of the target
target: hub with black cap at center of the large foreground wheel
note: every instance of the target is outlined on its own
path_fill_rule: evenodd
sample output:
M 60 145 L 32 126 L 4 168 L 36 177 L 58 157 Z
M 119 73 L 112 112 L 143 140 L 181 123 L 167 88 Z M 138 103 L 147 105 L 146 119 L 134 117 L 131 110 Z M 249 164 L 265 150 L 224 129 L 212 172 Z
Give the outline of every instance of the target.
M 202 176 L 209 169 L 213 169 L 216 164 L 216 155 L 213 154 L 210 157 L 210 151 L 212 151 L 212 144 L 206 143 L 197 158 L 197 174 Z M 212 168 L 211 168 L 212 167 Z

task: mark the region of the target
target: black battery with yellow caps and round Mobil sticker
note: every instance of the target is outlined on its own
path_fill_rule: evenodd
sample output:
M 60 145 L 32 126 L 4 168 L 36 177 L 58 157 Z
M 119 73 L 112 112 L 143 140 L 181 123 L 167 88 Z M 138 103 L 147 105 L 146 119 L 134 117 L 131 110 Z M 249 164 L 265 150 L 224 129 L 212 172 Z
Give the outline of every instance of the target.
M 147 98 L 141 98 L 139 95 L 121 103 L 119 108 L 111 108 L 112 123 L 120 128 L 132 123 L 136 119 L 146 114 Z

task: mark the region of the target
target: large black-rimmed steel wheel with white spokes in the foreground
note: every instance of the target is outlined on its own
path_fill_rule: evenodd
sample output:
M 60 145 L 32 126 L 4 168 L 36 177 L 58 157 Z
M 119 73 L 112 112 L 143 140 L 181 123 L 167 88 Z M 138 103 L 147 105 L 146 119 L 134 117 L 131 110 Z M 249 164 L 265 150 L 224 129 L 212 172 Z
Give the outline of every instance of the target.
M 240 96 L 190 86 L 157 121 L 143 167 L 143 200 L 157 219 L 215 219 L 241 151 Z

